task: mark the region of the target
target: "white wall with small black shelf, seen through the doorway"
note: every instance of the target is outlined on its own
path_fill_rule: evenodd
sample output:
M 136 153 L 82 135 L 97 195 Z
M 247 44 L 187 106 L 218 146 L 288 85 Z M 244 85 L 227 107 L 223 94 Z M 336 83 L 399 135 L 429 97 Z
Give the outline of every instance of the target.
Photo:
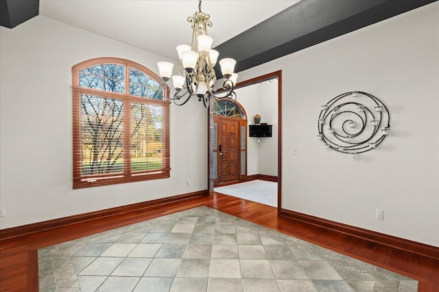
M 248 124 L 254 124 L 253 116 L 259 114 L 261 122 L 273 125 L 273 137 L 261 137 L 259 143 L 258 138 L 248 137 L 247 175 L 277 176 L 278 81 L 273 79 L 272 82 L 264 81 L 248 85 L 244 88 L 237 88 L 235 92 L 237 101 L 246 110 Z

